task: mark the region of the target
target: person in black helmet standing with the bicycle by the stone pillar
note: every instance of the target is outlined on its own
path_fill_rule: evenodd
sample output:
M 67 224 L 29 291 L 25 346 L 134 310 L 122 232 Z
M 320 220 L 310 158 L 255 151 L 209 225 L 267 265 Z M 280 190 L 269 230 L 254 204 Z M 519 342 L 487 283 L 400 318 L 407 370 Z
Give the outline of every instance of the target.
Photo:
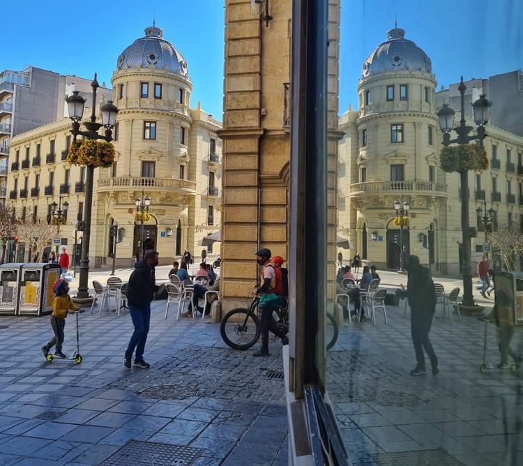
M 259 295 L 259 309 L 261 313 L 261 347 L 252 356 L 269 356 L 268 332 L 282 339 L 283 345 L 289 344 L 289 338 L 282 334 L 282 329 L 273 320 L 273 312 L 278 308 L 278 294 L 275 293 L 276 271 L 275 265 L 271 263 L 271 250 L 261 248 L 255 253 L 256 262 L 263 267 L 261 269 L 260 286 L 255 287 L 251 294 Z

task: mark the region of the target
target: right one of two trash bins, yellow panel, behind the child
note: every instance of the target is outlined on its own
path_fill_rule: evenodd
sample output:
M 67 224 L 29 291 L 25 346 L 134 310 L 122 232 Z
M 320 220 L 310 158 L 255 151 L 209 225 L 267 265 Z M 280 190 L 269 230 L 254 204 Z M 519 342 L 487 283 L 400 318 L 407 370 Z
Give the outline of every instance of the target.
M 52 313 L 52 285 L 60 278 L 59 264 L 23 264 L 20 270 L 19 315 Z

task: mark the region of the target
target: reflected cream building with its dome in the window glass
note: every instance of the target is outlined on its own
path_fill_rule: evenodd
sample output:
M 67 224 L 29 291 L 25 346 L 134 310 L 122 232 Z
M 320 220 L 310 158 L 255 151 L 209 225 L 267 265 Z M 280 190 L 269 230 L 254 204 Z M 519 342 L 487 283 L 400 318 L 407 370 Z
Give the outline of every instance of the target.
M 360 253 L 378 268 L 398 269 L 402 244 L 405 256 L 418 255 L 433 271 L 460 273 L 460 180 L 439 168 L 442 137 L 430 57 L 403 29 L 391 29 L 363 63 L 357 86 L 358 109 L 340 117 L 338 232 L 354 246 L 342 250 L 344 256 Z M 484 202 L 495 211 L 494 226 L 520 225 L 523 137 L 487 126 L 484 144 L 489 168 L 469 172 L 471 227 L 483 230 L 474 215 Z M 395 200 L 410 204 L 403 232 L 395 224 Z M 473 263 L 484 245 L 478 232 Z

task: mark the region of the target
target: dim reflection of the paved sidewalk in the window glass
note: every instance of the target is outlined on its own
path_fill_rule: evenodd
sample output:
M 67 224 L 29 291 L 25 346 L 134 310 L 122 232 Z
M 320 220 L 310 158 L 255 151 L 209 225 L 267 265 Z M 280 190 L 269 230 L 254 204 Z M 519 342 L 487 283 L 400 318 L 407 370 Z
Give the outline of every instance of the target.
M 388 324 L 381 311 L 376 326 L 345 322 L 327 355 L 328 393 L 354 466 L 522 465 L 523 368 L 480 373 L 485 324 L 439 316 L 430 336 L 441 374 L 427 361 L 429 373 L 412 377 L 409 315 L 392 306 L 387 315 Z M 487 330 L 497 364 L 496 327 Z M 512 347 L 523 354 L 523 328 Z

